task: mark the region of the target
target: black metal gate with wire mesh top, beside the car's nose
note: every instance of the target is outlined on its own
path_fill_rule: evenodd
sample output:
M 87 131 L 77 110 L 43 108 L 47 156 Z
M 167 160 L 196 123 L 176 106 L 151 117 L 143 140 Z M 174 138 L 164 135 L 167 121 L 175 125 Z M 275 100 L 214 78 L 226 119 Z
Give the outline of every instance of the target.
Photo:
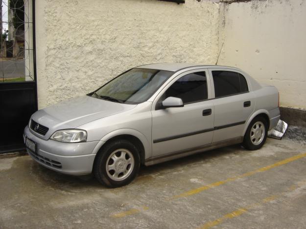
M 37 110 L 35 0 L 0 1 L 0 153 L 4 153 L 25 148 L 23 130 Z M 6 56 L 6 49 L 12 55 Z

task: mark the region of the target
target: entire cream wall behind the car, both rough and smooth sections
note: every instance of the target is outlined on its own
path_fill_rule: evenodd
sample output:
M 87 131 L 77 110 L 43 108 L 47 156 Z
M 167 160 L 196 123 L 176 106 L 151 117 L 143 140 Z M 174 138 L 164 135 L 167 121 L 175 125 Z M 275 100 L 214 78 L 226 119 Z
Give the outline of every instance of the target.
M 224 42 L 218 64 L 277 86 L 281 105 L 306 108 L 306 0 L 216 1 L 37 0 L 39 107 L 145 63 L 214 64 Z

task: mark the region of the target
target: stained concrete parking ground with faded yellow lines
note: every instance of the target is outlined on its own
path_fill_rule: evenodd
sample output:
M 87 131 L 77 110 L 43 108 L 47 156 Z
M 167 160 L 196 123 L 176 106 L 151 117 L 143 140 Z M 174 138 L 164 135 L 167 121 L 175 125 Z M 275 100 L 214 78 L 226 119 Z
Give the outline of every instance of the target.
M 257 151 L 231 146 L 142 167 L 116 189 L 1 156 L 0 193 L 1 229 L 306 228 L 306 142 L 267 139 Z

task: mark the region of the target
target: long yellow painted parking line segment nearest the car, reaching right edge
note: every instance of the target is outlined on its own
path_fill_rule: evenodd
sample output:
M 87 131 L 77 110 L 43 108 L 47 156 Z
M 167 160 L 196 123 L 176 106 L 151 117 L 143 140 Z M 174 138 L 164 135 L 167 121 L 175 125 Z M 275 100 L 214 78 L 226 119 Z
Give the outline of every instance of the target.
M 207 190 L 207 189 L 210 189 L 210 188 L 212 188 L 212 187 L 217 187 L 217 186 L 226 184 L 226 183 L 228 183 L 228 182 L 230 182 L 230 181 L 235 181 L 235 180 L 238 180 L 238 179 L 240 179 L 240 178 L 248 177 L 248 176 L 254 175 L 254 174 L 259 173 L 259 172 L 267 171 L 267 170 L 269 170 L 269 169 L 271 169 L 271 168 L 275 168 L 275 167 L 279 167 L 279 166 L 288 164 L 289 162 L 296 161 L 296 160 L 298 160 L 298 159 L 300 159 L 300 158 L 303 158 L 303 157 L 306 157 L 306 153 L 298 154 L 298 155 L 296 155 L 296 156 L 293 156 L 293 157 L 287 158 L 287 159 L 285 159 L 285 160 L 279 161 L 279 162 L 277 162 L 277 163 L 275 163 L 275 164 L 273 164 L 273 165 L 269 165 L 269 166 L 266 166 L 266 167 L 262 167 L 262 168 L 259 168 L 259 169 L 254 170 L 254 171 L 251 171 L 251 172 L 246 172 L 246 173 L 243 173 L 243 174 L 241 174 L 241 175 L 239 175 L 239 176 L 235 176 L 235 177 L 232 177 L 232 178 L 228 178 L 228 179 L 226 179 L 226 180 L 223 180 L 223 181 L 218 181 L 218 182 L 212 183 L 212 184 L 210 184 L 210 185 L 198 187 L 198 188 L 189 190 L 189 191 L 187 191 L 187 192 L 183 192 L 182 194 L 173 196 L 171 199 L 177 199 L 177 198 L 181 198 L 181 197 L 191 196 L 191 195 L 197 194 L 197 193 L 199 193 L 199 192 L 205 191 L 205 190 Z

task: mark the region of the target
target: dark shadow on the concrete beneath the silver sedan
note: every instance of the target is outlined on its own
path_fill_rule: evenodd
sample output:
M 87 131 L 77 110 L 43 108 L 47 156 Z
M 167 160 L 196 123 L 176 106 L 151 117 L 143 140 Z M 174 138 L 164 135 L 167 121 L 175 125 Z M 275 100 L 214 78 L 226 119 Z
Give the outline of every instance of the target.
M 140 183 L 143 184 L 143 182 L 152 182 L 152 179 L 154 179 L 154 177 L 150 177 L 150 179 L 144 178 L 150 176 L 153 173 L 167 174 L 167 171 L 169 169 L 175 170 L 181 169 L 182 167 L 188 167 L 196 163 L 205 163 L 205 161 L 207 160 L 216 159 L 220 156 L 224 156 L 227 154 L 241 153 L 242 150 L 245 149 L 241 148 L 240 145 L 227 146 L 219 149 L 200 152 L 194 155 L 171 160 L 149 167 L 141 166 L 139 175 L 137 176 L 135 181 L 133 181 L 133 184 L 137 185 Z M 82 176 L 66 175 L 43 167 L 32 160 L 31 170 L 32 174 L 36 174 L 36 179 L 38 179 L 40 183 L 44 183 L 44 185 L 47 185 L 48 187 L 54 189 L 64 190 L 68 192 L 82 192 L 82 190 L 85 191 L 88 190 L 88 188 L 98 188 L 100 190 L 109 189 L 108 187 L 101 185 L 94 178 L 93 174 Z

